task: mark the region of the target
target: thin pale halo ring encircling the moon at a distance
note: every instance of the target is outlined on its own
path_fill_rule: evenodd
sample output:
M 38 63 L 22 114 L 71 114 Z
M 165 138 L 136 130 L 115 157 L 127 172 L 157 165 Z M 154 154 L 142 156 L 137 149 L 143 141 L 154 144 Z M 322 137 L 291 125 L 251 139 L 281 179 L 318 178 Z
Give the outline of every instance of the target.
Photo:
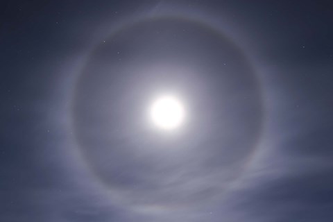
M 123 31 L 128 31 L 128 30 L 130 30 L 130 28 L 141 26 L 142 24 L 144 26 L 147 22 L 149 23 L 151 21 L 157 21 L 158 22 L 158 21 L 160 21 L 159 19 L 162 19 L 162 21 L 167 21 L 167 23 L 166 23 L 167 25 L 168 25 L 168 21 L 171 21 L 171 22 L 177 21 L 177 22 L 180 22 L 182 24 L 190 24 L 190 26 L 193 25 L 194 27 L 198 27 L 198 30 L 200 30 L 200 28 L 203 28 L 204 31 L 212 31 L 212 33 L 214 33 L 214 35 L 219 35 L 221 37 L 222 42 L 226 41 L 226 40 L 227 40 L 228 43 L 232 42 L 227 37 L 225 37 L 225 35 L 223 33 L 221 33 L 221 31 L 219 31 L 219 29 L 216 29 L 216 28 L 210 26 L 210 24 L 205 24 L 205 22 L 197 21 L 197 20 L 192 19 L 192 18 L 188 19 L 188 18 L 184 18 L 184 17 L 170 17 L 170 16 L 155 17 L 153 19 L 152 18 L 139 19 L 139 21 L 136 21 L 132 24 L 126 24 L 126 25 L 120 26 L 119 28 L 117 28 L 116 31 L 114 31 L 110 35 L 110 37 L 108 37 L 108 40 L 112 40 L 113 37 L 117 37 L 117 35 L 119 35 L 119 33 L 123 32 Z M 105 44 L 105 42 L 101 42 L 97 46 L 95 46 L 94 49 L 92 49 L 91 53 L 89 53 L 89 56 L 87 57 L 87 61 L 94 60 L 93 57 L 96 57 L 96 54 L 99 54 L 99 53 L 103 54 L 104 51 L 103 50 L 101 51 L 101 48 L 104 47 L 104 44 Z M 245 61 L 244 64 L 246 64 L 245 66 L 248 65 L 248 67 L 252 67 L 250 64 L 248 64 L 249 63 L 248 60 L 245 58 L 244 53 L 242 53 L 242 51 L 239 50 L 238 46 L 233 44 L 232 46 L 230 46 L 230 48 L 232 48 L 232 50 L 234 50 L 234 48 L 236 48 L 238 50 L 236 52 L 236 54 L 238 53 L 236 57 L 237 58 L 244 58 L 244 61 Z M 240 56 L 239 56 L 239 53 L 241 54 Z M 115 57 L 112 57 L 112 58 L 114 59 Z M 88 126 L 89 124 L 94 124 L 94 123 L 86 123 L 86 122 L 81 123 L 82 119 L 85 119 L 87 117 L 88 113 L 83 113 L 81 111 L 80 111 L 80 113 L 78 113 L 78 110 L 80 110 L 81 108 L 85 107 L 85 105 L 87 105 L 87 104 L 85 104 L 85 102 L 83 101 L 83 98 L 82 98 L 83 97 L 82 96 L 83 89 L 87 89 L 87 87 L 83 87 L 82 85 L 86 85 L 88 87 L 91 87 L 91 85 L 89 85 L 90 83 L 87 83 L 87 80 L 84 79 L 84 78 L 88 78 L 87 76 L 89 76 L 87 74 L 87 73 L 89 73 L 89 71 L 86 71 L 86 70 L 89 69 L 89 66 L 91 66 L 91 64 L 94 66 L 96 61 L 95 61 L 95 63 L 92 62 L 90 65 L 88 63 L 86 65 L 84 65 L 84 68 L 83 68 L 83 72 L 85 72 L 85 74 L 79 74 L 79 76 L 77 77 L 76 84 L 74 85 L 74 96 L 73 96 L 73 99 L 71 101 L 72 102 L 71 117 L 73 119 L 73 127 L 74 127 L 74 133 L 76 135 L 76 142 L 78 143 L 78 146 L 80 147 L 80 154 L 83 156 L 83 160 L 85 160 L 85 162 L 87 162 L 87 166 L 89 166 L 89 169 L 92 169 L 92 172 L 94 173 L 94 176 L 96 176 L 96 178 L 101 182 L 101 184 L 103 185 L 103 187 L 105 187 L 106 190 L 110 191 L 110 193 L 112 194 L 112 197 L 117 198 L 117 200 L 121 200 L 121 201 L 123 200 L 123 203 L 130 203 L 130 205 L 135 205 L 135 206 L 142 205 L 140 200 L 139 200 L 141 198 L 141 195 L 138 194 L 138 193 L 139 193 L 139 191 L 144 193 L 146 190 L 143 189 L 143 188 L 131 187 L 129 185 L 129 183 L 126 184 L 126 182 L 127 182 L 126 180 L 132 180 L 132 178 L 130 178 L 130 176 L 126 175 L 126 176 L 119 176 L 120 180 L 124 180 L 123 184 L 126 184 L 126 186 L 127 186 L 127 187 L 125 186 L 126 187 L 125 191 L 120 191 L 119 187 L 121 187 L 122 185 L 118 184 L 117 182 L 114 182 L 114 180 L 117 180 L 117 179 L 112 180 L 112 179 L 108 178 L 108 176 L 105 176 L 104 167 L 101 167 L 101 165 L 96 164 L 96 162 L 98 162 L 98 158 L 103 156 L 103 154 L 91 157 L 91 155 L 92 155 L 91 149 L 84 147 L 84 146 L 86 146 L 85 144 L 94 143 L 92 141 L 87 141 L 85 139 L 85 137 L 87 136 L 87 131 L 89 131 L 89 130 L 82 130 L 82 128 L 87 128 L 85 126 Z M 92 76 L 89 76 L 89 77 L 91 78 Z M 103 78 L 105 78 L 105 77 L 102 76 L 101 79 L 103 79 Z M 260 123 L 258 123 L 260 126 L 257 126 L 256 123 L 250 123 L 249 124 L 250 126 L 253 125 L 253 126 L 258 127 L 258 129 L 257 129 L 258 132 L 255 134 L 255 136 L 253 136 L 255 138 L 249 140 L 251 143 L 253 143 L 251 145 L 251 147 L 249 148 L 250 151 L 246 151 L 246 152 L 244 151 L 246 153 L 246 157 L 244 157 L 244 158 L 242 157 L 243 161 L 242 161 L 242 164 L 241 164 L 241 167 L 240 167 L 241 170 L 237 171 L 237 176 L 234 176 L 234 179 L 232 179 L 232 180 L 230 179 L 230 181 L 228 179 L 228 181 L 229 181 L 228 184 L 230 184 L 231 181 L 234 181 L 236 178 L 238 178 L 239 175 L 241 174 L 241 172 L 244 171 L 248 162 L 250 162 L 252 157 L 255 155 L 257 144 L 258 144 L 258 142 L 260 140 L 260 137 L 261 137 L 262 125 L 263 125 L 263 115 L 264 115 L 264 108 L 263 108 L 263 104 L 262 104 L 263 103 L 263 101 L 262 101 L 262 88 L 260 87 L 260 84 L 259 84 L 260 81 L 258 79 L 258 76 L 255 74 L 255 71 L 253 71 L 253 70 L 250 71 L 250 78 L 253 78 L 253 79 L 249 80 L 246 77 L 245 80 L 250 81 L 251 84 L 253 83 L 253 85 L 255 85 L 253 87 L 253 89 L 250 88 L 248 90 L 250 92 L 254 92 L 254 94 L 258 97 L 258 98 L 255 99 L 255 101 L 257 102 L 257 106 L 260 106 L 258 108 L 258 110 L 259 110 L 258 112 L 260 112 L 260 113 L 256 114 L 256 118 L 257 118 L 258 121 L 260 121 Z M 237 80 L 234 80 L 234 81 L 237 82 Z M 96 83 L 101 83 L 101 82 L 96 82 Z M 238 82 L 237 83 L 232 83 L 232 84 L 237 85 L 237 87 L 240 87 Z M 105 87 L 105 90 L 108 90 L 108 89 Z M 189 91 L 191 91 L 191 90 L 189 90 Z M 99 98 L 99 96 L 97 96 L 96 98 Z M 88 101 L 94 101 L 94 98 L 88 99 Z M 96 99 L 95 99 L 95 101 L 96 101 Z M 228 99 L 227 99 L 227 101 L 228 101 Z M 232 101 L 230 101 L 230 99 L 229 99 L 228 103 L 232 103 Z M 234 107 L 236 107 L 236 105 L 234 105 Z M 98 114 L 96 114 L 96 116 L 97 115 Z M 257 115 L 259 117 L 257 117 Z M 102 116 L 103 116 L 103 114 L 102 114 Z M 232 117 L 232 118 L 235 118 L 235 117 Z M 98 119 L 98 120 L 100 121 L 101 119 Z M 210 121 L 210 119 L 208 119 L 207 121 Z M 110 130 L 110 128 L 108 128 L 108 129 Z M 126 131 L 126 129 L 122 129 L 122 130 Z M 133 135 L 135 135 L 135 134 L 133 134 Z M 118 137 L 117 137 L 117 139 L 120 141 L 120 139 Z M 104 142 L 104 145 L 108 144 L 108 142 L 109 142 L 108 139 L 105 139 L 105 137 L 103 137 L 102 140 L 106 141 L 106 142 Z M 153 141 L 153 143 L 154 142 L 155 141 Z M 137 144 L 142 143 L 142 144 L 144 144 L 144 142 L 140 139 L 136 139 L 135 142 L 133 142 L 133 143 L 137 143 Z M 94 144 L 94 145 L 96 145 L 96 144 Z M 108 145 L 110 146 L 110 144 L 108 144 Z M 130 143 L 126 144 L 126 146 L 130 146 L 130 145 L 131 145 Z M 133 146 L 133 144 L 132 144 L 132 146 Z M 158 146 L 162 146 L 162 145 L 158 144 Z M 101 151 L 105 151 L 105 148 L 101 148 Z M 212 149 L 212 151 L 214 151 L 214 149 Z M 96 152 L 98 152 L 98 151 L 96 151 Z M 116 155 L 126 156 L 126 155 L 123 155 L 121 153 L 121 151 L 117 151 L 117 152 L 118 153 L 116 153 Z M 172 155 L 172 154 L 167 153 L 165 155 Z M 207 158 L 209 158 L 209 157 L 207 157 Z M 110 169 L 111 169 L 112 164 L 108 165 L 108 167 L 110 167 Z M 119 164 L 114 164 L 113 167 L 117 168 L 117 167 L 119 167 Z M 186 168 L 186 167 L 184 167 L 184 168 Z M 135 169 L 135 167 L 132 167 L 131 169 Z M 187 171 L 186 169 L 185 169 L 185 171 L 186 171 L 185 174 L 191 173 L 190 171 Z M 112 173 L 117 174 L 117 171 L 112 171 L 111 174 Z M 128 173 L 128 172 L 126 172 L 126 173 Z M 153 174 L 154 173 L 155 173 L 155 171 L 153 172 Z M 141 175 L 141 174 L 139 173 L 139 175 Z M 155 179 L 147 178 L 146 180 L 150 181 L 150 180 L 155 180 Z M 209 180 L 210 177 L 205 178 L 205 180 L 207 180 L 207 179 Z M 139 178 L 134 179 L 133 183 L 135 183 L 135 180 L 139 181 L 140 179 Z M 214 182 L 216 182 L 216 181 L 214 181 Z M 158 187 L 158 184 L 154 184 L 153 186 Z M 205 186 L 200 187 L 200 186 L 201 185 L 198 185 L 198 187 L 194 187 L 194 191 L 189 192 L 188 196 L 186 196 L 184 198 L 184 199 L 186 199 L 186 201 L 184 199 L 181 199 L 180 202 L 186 202 L 185 205 L 189 205 L 189 203 L 187 203 L 187 199 L 189 198 L 189 196 L 194 196 L 194 194 L 198 193 L 199 191 L 205 191 L 205 188 L 207 188 L 206 185 L 205 185 L 206 187 Z M 176 187 L 176 188 L 179 189 L 180 191 L 182 191 L 181 186 Z M 214 190 L 215 188 L 216 188 L 216 186 L 213 186 L 212 190 Z M 136 193 L 135 191 L 133 191 L 133 192 L 130 191 L 131 189 L 138 189 L 139 191 Z M 223 190 L 224 190 L 224 188 L 223 188 Z M 156 196 L 157 192 L 158 192 L 158 189 L 156 189 L 156 192 L 155 191 L 153 191 L 153 192 L 147 191 L 147 192 L 148 192 L 148 196 Z M 161 198 L 165 198 L 164 193 L 167 194 L 168 190 L 165 189 L 162 192 L 163 192 L 163 194 L 161 195 L 162 197 L 157 197 L 156 199 L 155 199 L 155 197 L 150 198 L 150 199 L 148 198 L 147 203 L 145 203 L 144 205 L 152 205 L 154 203 L 154 205 L 163 206 L 162 208 L 168 208 L 169 209 L 169 207 L 166 207 L 166 206 L 172 205 L 173 201 L 172 200 L 165 200 L 165 203 L 164 203 L 164 200 L 160 201 Z M 216 191 L 212 191 L 212 192 L 214 193 Z M 129 193 L 129 194 L 127 194 L 127 193 Z M 131 198 L 130 196 L 134 196 L 134 198 Z M 191 202 L 193 202 L 193 201 L 191 200 Z

